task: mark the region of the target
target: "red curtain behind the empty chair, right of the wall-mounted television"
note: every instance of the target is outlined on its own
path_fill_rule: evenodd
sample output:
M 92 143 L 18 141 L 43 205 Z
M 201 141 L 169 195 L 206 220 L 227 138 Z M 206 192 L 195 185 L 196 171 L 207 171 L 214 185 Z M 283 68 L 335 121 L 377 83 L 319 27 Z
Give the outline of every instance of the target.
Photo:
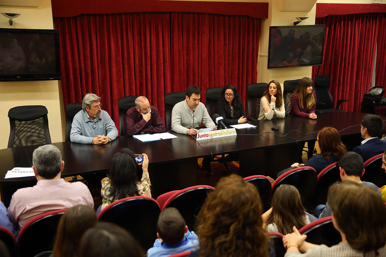
M 313 76 L 327 75 L 334 105 L 349 100 L 341 109 L 359 112 L 364 93 L 369 91 L 378 35 L 379 14 L 328 15 L 317 18 L 326 24 L 323 64 L 314 66 Z M 342 108 L 343 107 L 343 108 Z

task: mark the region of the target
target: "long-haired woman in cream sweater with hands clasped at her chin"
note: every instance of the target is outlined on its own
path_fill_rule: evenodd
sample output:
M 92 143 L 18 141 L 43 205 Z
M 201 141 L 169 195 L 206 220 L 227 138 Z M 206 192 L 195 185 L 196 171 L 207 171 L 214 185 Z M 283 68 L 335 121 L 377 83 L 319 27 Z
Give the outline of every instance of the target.
M 257 119 L 271 120 L 274 115 L 276 115 L 277 118 L 284 118 L 286 116 L 283 93 L 281 92 L 280 83 L 277 80 L 272 80 L 268 83 L 260 99 L 260 113 Z

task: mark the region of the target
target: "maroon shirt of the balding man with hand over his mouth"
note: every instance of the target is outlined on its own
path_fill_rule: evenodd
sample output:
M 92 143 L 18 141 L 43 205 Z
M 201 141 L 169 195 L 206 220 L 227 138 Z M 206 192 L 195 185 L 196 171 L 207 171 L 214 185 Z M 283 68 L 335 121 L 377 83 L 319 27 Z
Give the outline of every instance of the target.
M 159 116 L 158 109 L 154 106 L 151 106 L 151 117 L 148 122 L 142 118 L 142 114 L 135 107 L 127 110 L 126 127 L 126 135 L 141 134 L 142 131 L 144 134 L 163 133 L 166 131 L 165 123 Z

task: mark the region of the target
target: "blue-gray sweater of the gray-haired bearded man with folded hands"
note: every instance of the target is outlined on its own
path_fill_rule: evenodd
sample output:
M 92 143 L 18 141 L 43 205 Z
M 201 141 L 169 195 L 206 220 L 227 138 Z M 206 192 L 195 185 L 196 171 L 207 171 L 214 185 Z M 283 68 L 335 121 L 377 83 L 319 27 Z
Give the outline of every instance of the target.
M 110 115 L 106 111 L 101 110 L 100 117 L 91 120 L 83 110 L 76 113 L 71 125 L 71 142 L 92 144 L 93 138 L 97 135 L 105 135 L 110 137 L 111 140 L 117 138 L 118 130 Z

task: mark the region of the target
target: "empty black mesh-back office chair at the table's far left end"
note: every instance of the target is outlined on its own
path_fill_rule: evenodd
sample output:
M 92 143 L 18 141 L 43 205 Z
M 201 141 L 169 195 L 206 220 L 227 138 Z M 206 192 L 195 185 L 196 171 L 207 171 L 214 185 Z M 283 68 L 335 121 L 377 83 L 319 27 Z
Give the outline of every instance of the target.
M 26 105 L 10 108 L 11 127 L 8 148 L 24 145 L 51 144 L 47 108 L 42 105 Z

